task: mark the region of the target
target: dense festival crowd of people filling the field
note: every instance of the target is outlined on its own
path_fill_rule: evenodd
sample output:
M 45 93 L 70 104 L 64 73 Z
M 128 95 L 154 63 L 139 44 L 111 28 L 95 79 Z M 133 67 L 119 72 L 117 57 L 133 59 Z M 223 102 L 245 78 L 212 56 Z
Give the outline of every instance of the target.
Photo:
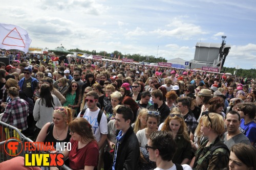
M 72 150 L 63 155 L 72 169 L 256 169 L 253 79 L 47 55 L 6 57 L 1 121 L 34 141 L 70 141 Z

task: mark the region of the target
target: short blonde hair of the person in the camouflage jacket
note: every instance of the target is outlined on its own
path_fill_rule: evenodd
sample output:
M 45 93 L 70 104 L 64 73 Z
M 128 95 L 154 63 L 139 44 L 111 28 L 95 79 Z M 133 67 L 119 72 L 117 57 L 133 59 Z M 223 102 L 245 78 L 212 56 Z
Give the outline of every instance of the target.
M 208 113 L 208 116 L 206 114 L 202 116 L 199 125 L 203 124 L 206 127 L 211 127 L 218 135 L 221 135 L 225 127 L 223 117 L 217 113 Z

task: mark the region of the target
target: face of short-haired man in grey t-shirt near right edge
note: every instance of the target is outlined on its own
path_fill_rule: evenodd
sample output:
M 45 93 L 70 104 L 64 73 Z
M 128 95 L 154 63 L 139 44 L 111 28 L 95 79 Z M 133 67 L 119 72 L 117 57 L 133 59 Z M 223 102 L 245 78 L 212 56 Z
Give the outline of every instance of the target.
M 226 115 L 225 124 L 227 126 L 228 133 L 235 133 L 238 130 L 240 126 L 240 121 L 238 118 L 239 117 L 237 114 L 228 113 Z

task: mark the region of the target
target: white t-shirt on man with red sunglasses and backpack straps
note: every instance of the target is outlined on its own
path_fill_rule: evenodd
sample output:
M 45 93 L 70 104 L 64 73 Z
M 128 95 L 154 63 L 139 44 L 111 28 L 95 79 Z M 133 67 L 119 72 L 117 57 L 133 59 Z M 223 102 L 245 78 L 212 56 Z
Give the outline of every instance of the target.
M 106 115 L 102 113 L 101 119 L 100 119 L 100 124 L 98 124 L 98 113 L 99 113 L 99 108 L 91 112 L 90 109 L 86 109 L 86 112 L 83 115 L 83 118 L 87 119 L 89 124 L 92 125 L 92 130 L 93 130 L 93 135 L 97 142 L 99 142 L 101 138 L 101 134 L 108 134 L 108 121 L 106 120 Z M 80 117 L 81 112 L 77 115 L 77 118 Z

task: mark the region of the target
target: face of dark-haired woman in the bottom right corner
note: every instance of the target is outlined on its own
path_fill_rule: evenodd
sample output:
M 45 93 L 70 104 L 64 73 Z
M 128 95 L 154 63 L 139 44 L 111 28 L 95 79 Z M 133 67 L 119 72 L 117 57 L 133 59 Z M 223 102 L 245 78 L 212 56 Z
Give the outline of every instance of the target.
M 249 170 L 250 168 L 244 164 L 238 157 L 231 151 L 229 156 L 229 169 L 230 170 Z

